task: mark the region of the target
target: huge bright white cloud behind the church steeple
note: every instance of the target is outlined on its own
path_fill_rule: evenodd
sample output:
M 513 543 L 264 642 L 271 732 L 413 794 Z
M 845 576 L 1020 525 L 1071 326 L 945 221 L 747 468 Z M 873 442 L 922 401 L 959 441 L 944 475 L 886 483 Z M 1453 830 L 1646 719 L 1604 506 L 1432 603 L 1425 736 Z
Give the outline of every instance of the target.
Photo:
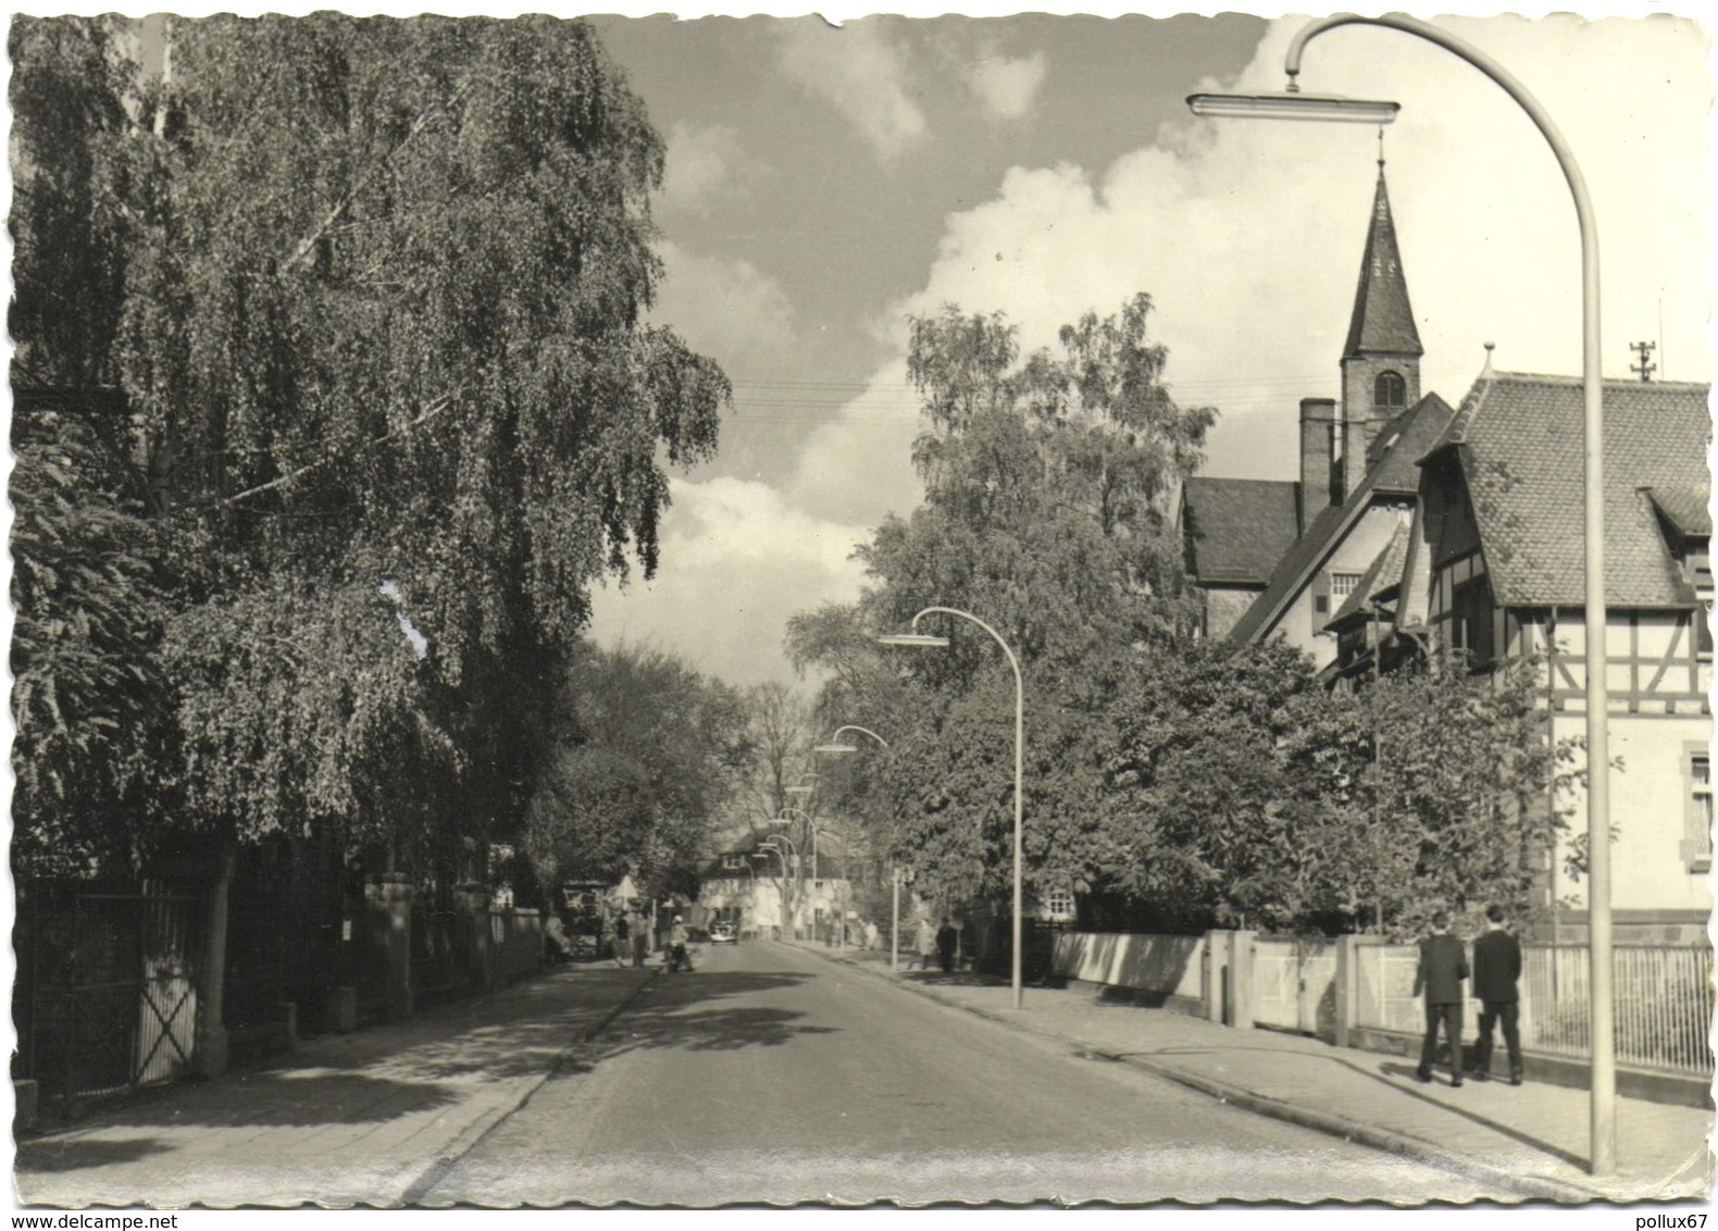
M 1242 88 L 1282 86 L 1297 26 L 1266 36 Z M 1627 375 L 1625 344 L 1656 335 L 1661 299 L 1660 375 L 1709 378 L 1699 29 L 1663 17 L 1447 28 L 1527 83 L 1581 160 L 1601 230 L 1606 373 Z M 1423 387 L 1459 399 L 1486 340 L 1498 368 L 1579 373 L 1574 210 L 1519 107 L 1447 52 L 1392 31 L 1326 34 L 1302 67 L 1307 89 L 1404 105 L 1385 150 Z M 1223 413 L 1208 473 L 1292 476 L 1299 399 L 1337 392 L 1376 150 L 1376 132 L 1357 126 L 1189 117 L 1101 175 L 1014 168 L 991 201 L 948 218 L 895 335 L 904 346 L 907 313 L 953 301 L 1002 309 L 1024 346 L 1043 346 L 1081 311 L 1108 313 L 1148 291 L 1177 397 Z

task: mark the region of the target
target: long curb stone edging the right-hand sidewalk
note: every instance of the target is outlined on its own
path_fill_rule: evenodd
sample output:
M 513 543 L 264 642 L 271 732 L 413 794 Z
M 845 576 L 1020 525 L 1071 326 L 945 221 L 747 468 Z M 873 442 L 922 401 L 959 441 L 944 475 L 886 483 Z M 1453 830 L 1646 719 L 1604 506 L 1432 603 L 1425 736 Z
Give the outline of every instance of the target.
M 833 954 L 823 954 L 818 952 L 816 949 L 809 949 L 809 952 L 813 952 L 818 958 L 823 958 L 825 961 L 840 963 L 844 966 L 861 970 L 874 978 L 890 982 L 895 987 L 923 995 L 924 999 L 935 1001 L 936 1004 L 941 1004 L 945 1007 L 960 1009 L 964 1013 L 971 1013 L 976 1018 L 984 1018 L 986 1021 L 993 1021 L 996 1025 L 1008 1026 L 1012 1030 L 1020 1030 L 1024 1033 L 1038 1035 L 1041 1038 L 1053 1038 L 1060 1044 L 1067 1044 L 1069 1047 L 1079 1049 L 1081 1056 L 1130 1064 L 1154 1076 L 1160 1076 L 1167 1081 L 1175 1081 L 1177 1085 L 1197 1090 L 1199 1093 L 1209 1095 L 1218 1102 L 1230 1104 L 1242 1111 L 1249 1111 L 1258 1116 L 1268 1116 L 1271 1119 L 1282 1119 L 1285 1123 L 1299 1124 L 1301 1128 L 1311 1128 L 1314 1131 L 1328 1133 L 1331 1136 L 1340 1136 L 1347 1142 L 1356 1142 L 1357 1145 L 1366 1145 L 1369 1148 L 1381 1150 L 1383 1154 L 1398 1154 L 1409 1159 L 1417 1159 L 1421 1162 L 1429 1162 L 1447 1171 L 1459 1171 L 1472 1178 L 1502 1185 L 1508 1191 L 1519 1193 L 1524 1198 L 1553 1200 L 1560 1203 L 1586 1203 L 1606 1198 L 1606 1193 L 1599 1190 L 1589 1190 L 1584 1188 L 1582 1185 L 1575 1185 L 1565 1179 L 1551 1179 L 1548 1176 L 1519 1176 L 1510 1171 L 1491 1167 L 1469 1155 L 1455 1154 L 1453 1150 L 1448 1150 L 1441 1145 L 1435 1145 L 1433 1142 L 1421 1140 L 1409 1133 L 1397 1133 L 1386 1128 L 1378 1128 L 1376 1124 L 1354 1121 L 1345 1116 L 1338 1116 L 1335 1112 L 1318 1111 L 1313 1107 L 1304 1107 L 1301 1104 L 1271 1099 L 1270 1095 L 1247 1090 L 1246 1087 L 1237 1087 L 1228 1081 L 1218 1081 L 1215 1078 L 1187 1073 L 1172 1064 L 1163 1064 L 1161 1061 L 1153 1061 L 1141 1056 L 1122 1056 L 1096 1047 L 1087 1047 L 1053 1030 L 1033 1026 L 1026 1021 L 1019 1021 L 1015 1018 L 979 1007 L 976 1004 L 960 1004 L 959 1001 L 947 999 L 929 987 L 921 987 L 919 983 L 904 982 L 897 978 L 892 971 L 873 970 L 869 966 L 864 966 L 862 963 L 849 961 L 845 958 L 838 958 Z

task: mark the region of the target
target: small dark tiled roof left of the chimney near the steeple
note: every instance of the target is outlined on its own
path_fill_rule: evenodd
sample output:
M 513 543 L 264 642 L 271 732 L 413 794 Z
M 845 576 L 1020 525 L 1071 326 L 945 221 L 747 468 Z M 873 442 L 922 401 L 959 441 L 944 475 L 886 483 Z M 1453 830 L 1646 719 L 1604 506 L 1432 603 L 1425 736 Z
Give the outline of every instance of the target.
M 1203 585 L 1264 585 L 1295 538 L 1295 483 L 1191 478 L 1182 488 L 1182 533 Z

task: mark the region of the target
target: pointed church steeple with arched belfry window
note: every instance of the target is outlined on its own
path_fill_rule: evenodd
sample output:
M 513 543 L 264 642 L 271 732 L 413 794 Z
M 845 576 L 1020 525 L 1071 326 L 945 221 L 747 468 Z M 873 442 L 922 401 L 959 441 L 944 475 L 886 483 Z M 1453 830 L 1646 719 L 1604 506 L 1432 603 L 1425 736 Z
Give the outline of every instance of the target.
M 1343 499 L 1366 476 L 1366 457 L 1378 430 L 1419 401 L 1419 358 L 1424 352 L 1414 328 L 1414 306 L 1407 297 L 1407 275 L 1385 189 L 1385 160 L 1380 156 L 1361 280 L 1354 292 L 1349 340 L 1342 347 Z

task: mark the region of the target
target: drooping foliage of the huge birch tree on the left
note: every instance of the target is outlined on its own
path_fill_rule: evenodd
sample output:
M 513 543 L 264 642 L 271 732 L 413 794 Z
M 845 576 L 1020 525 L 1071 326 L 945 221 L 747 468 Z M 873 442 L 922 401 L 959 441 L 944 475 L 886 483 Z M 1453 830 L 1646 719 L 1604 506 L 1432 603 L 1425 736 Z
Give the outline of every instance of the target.
M 163 784 L 241 836 L 493 834 L 591 583 L 655 571 L 665 466 L 715 449 L 728 397 L 643 323 L 663 143 L 582 22 L 167 43 L 155 79 L 113 22 L 10 41 L 14 328 L 31 380 L 125 394 L 170 576 Z

